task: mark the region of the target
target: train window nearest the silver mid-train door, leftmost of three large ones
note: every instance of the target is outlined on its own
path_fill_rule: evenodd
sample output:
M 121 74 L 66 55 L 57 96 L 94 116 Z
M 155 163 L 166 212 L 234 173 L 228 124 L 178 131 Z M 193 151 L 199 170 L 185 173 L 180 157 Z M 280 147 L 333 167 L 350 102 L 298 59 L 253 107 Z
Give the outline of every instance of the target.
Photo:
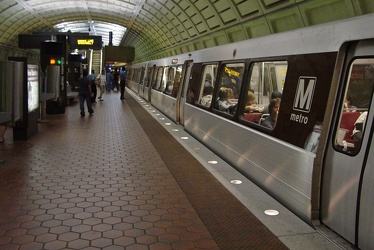
M 213 98 L 213 91 L 216 82 L 218 64 L 206 64 L 202 68 L 202 77 L 200 82 L 200 94 L 196 103 L 209 108 Z

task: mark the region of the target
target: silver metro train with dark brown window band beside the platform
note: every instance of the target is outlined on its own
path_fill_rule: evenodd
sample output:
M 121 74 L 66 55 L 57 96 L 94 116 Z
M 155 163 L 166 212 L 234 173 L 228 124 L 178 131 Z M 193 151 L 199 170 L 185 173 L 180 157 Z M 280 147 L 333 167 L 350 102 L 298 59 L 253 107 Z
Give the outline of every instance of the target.
M 373 23 L 129 65 L 128 88 L 311 226 L 374 249 Z

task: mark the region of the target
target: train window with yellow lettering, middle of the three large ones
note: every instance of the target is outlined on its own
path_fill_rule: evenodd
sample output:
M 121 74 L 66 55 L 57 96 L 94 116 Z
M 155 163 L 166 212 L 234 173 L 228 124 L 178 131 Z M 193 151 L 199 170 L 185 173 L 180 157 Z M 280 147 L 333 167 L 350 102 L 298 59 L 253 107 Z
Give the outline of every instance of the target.
M 217 99 L 214 100 L 214 109 L 230 115 L 236 113 L 243 71 L 244 63 L 222 64 L 219 84 L 214 87 L 218 92 Z

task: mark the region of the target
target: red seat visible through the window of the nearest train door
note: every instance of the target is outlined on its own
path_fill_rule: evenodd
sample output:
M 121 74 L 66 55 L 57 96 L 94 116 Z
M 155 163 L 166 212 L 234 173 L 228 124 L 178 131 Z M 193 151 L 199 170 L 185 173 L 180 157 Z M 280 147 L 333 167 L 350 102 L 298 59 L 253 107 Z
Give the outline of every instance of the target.
M 354 141 L 352 140 L 351 136 L 355 122 L 360 114 L 360 112 L 343 112 L 342 114 L 336 141 L 339 146 L 344 147 L 344 150 L 354 148 Z

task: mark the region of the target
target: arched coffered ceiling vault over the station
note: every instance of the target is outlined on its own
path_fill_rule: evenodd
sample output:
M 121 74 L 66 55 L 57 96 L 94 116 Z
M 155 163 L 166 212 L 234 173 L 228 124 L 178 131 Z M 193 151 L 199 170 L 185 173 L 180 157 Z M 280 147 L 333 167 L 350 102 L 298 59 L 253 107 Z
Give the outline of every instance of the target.
M 372 0 L 0 0 L 0 49 L 18 48 L 19 34 L 70 29 L 107 43 L 112 31 L 145 60 L 373 12 Z

